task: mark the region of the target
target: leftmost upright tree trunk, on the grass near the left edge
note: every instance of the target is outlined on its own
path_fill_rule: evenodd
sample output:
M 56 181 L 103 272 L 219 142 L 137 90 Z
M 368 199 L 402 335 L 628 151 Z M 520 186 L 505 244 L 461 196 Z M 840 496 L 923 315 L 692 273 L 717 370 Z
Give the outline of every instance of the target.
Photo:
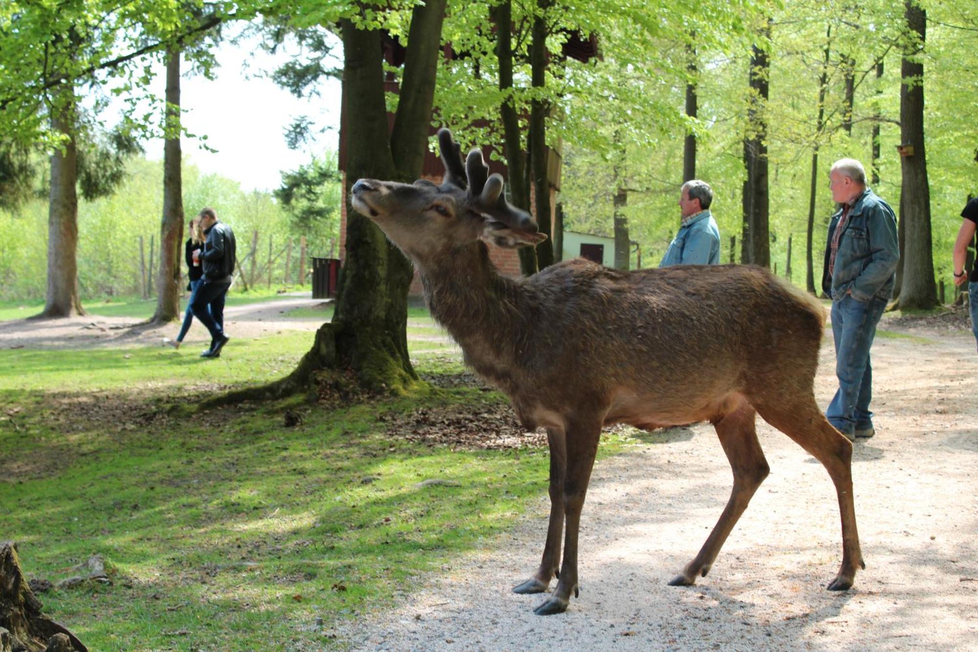
M 48 206 L 48 294 L 40 318 L 85 314 L 78 299 L 78 160 L 74 143 L 74 89 L 55 95 L 51 130 L 67 139 L 51 155 Z M 64 100 L 65 106 L 58 106 Z

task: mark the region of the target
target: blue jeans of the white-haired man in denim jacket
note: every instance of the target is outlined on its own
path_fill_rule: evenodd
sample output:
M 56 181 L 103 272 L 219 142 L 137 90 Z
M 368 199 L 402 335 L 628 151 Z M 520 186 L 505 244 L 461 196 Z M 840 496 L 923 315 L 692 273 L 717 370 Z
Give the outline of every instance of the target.
M 869 348 L 886 302 L 873 297 L 861 302 L 846 295 L 832 302 L 835 376 L 839 389 L 825 409 L 825 418 L 843 435 L 872 428 L 872 365 Z

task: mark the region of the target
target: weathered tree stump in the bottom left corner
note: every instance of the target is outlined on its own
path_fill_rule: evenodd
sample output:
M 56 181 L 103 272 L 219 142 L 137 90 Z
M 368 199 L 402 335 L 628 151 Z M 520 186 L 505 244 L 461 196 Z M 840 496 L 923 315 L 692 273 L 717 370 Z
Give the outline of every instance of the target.
M 70 631 L 41 615 L 12 541 L 0 541 L 0 652 L 88 652 Z

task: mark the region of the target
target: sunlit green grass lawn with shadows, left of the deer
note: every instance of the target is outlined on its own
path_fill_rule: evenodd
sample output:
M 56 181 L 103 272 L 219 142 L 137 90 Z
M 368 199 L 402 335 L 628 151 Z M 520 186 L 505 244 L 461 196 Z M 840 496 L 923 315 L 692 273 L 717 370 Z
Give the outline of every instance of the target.
M 414 328 L 437 331 L 424 319 Z M 0 350 L 0 539 L 18 541 L 28 578 L 58 582 L 98 553 L 112 580 L 41 594 L 47 615 L 92 650 L 333 649 L 337 619 L 390 604 L 546 495 L 544 449 L 387 432 L 388 415 L 505 402 L 495 393 L 179 407 L 282 376 L 310 339 L 237 340 L 209 363 L 157 348 Z M 423 374 L 462 370 L 450 345 L 409 345 Z M 601 454 L 627 445 L 609 438 Z

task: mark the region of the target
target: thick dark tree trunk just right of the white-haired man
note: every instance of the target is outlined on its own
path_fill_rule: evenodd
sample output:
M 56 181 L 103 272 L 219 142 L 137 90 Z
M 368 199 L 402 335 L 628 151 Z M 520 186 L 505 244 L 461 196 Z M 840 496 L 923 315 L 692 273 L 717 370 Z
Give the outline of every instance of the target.
M 909 42 L 905 46 L 902 65 L 900 131 L 903 143 L 913 148 L 913 154 L 901 157 L 901 197 L 907 236 L 899 306 L 901 309 L 930 309 L 937 305 L 937 289 L 930 230 L 930 186 L 924 151 L 923 64 L 920 63 L 926 36 L 926 14 L 913 0 L 907 0 L 905 8 Z

